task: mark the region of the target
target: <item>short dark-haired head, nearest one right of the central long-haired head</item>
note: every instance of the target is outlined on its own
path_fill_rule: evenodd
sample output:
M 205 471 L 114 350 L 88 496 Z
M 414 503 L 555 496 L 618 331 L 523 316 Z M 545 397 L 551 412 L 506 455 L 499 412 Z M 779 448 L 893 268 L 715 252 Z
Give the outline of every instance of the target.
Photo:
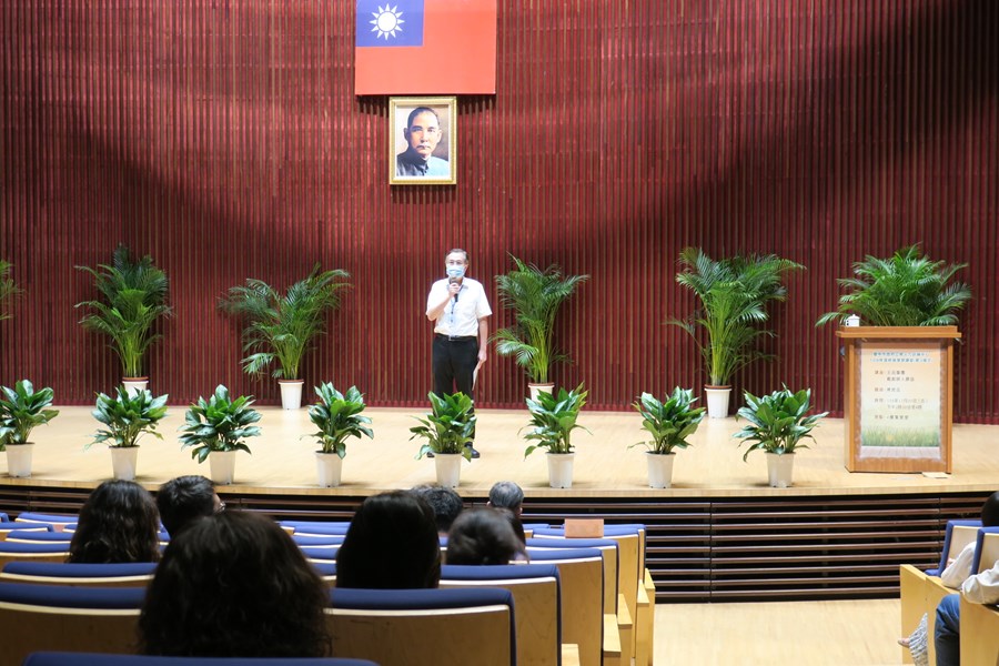
M 509 519 L 494 508 L 473 508 L 457 517 L 447 535 L 447 564 L 509 564 L 527 559 Z

